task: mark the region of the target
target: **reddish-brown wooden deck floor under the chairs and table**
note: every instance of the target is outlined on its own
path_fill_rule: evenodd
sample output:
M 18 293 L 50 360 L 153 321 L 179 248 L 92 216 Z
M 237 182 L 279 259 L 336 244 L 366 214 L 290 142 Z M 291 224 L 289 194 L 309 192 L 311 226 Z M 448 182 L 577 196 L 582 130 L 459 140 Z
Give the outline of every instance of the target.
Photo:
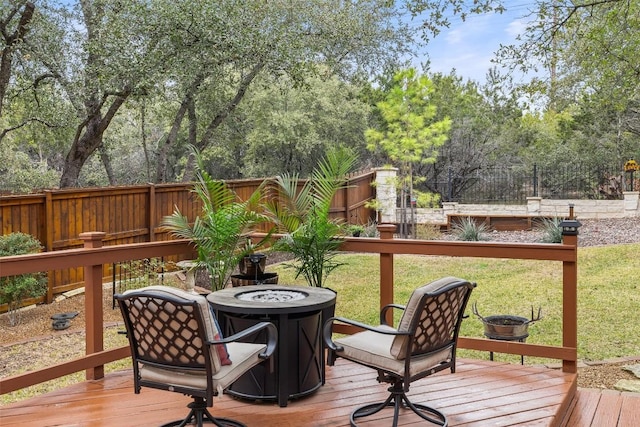
M 113 373 L 0 407 L 0 424 L 139 427 L 186 416 L 189 397 L 148 388 L 136 395 L 131 375 L 131 371 Z M 323 387 L 285 408 L 223 396 L 214 400 L 211 411 L 249 427 L 346 427 L 357 406 L 383 400 L 386 388 L 371 370 L 339 359 L 327 368 Z M 640 425 L 639 395 L 576 391 L 575 375 L 543 367 L 461 359 L 455 374 L 444 371 L 416 381 L 408 394 L 415 402 L 443 411 L 455 427 Z M 424 425 L 410 413 L 401 415 L 400 421 L 407 427 Z M 390 424 L 388 411 L 362 423 L 364 427 Z

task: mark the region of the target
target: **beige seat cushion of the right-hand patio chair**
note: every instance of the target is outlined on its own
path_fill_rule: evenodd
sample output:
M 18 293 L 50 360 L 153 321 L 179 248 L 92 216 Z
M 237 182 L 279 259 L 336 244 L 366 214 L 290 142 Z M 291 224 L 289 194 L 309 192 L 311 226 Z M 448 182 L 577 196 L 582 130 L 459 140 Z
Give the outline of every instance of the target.
M 379 326 L 379 329 L 395 331 L 395 329 L 384 325 Z M 344 348 L 344 351 L 340 352 L 340 357 L 356 360 L 403 376 L 404 360 L 399 360 L 391 354 L 391 344 L 394 342 L 394 338 L 394 335 L 364 331 L 338 338 L 335 343 Z M 429 356 L 414 357 L 411 359 L 410 375 L 417 375 L 439 365 L 442 361 L 448 362 L 450 360 L 451 349 L 441 350 Z

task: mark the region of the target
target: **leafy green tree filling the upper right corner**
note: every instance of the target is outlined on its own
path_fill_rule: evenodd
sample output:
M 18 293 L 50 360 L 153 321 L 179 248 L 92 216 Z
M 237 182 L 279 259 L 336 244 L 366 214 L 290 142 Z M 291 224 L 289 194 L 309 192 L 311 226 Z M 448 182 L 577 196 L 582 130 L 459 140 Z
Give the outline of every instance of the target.
M 621 165 L 637 155 L 640 145 L 630 142 L 640 135 L 639 17 L 637 2 L 540 1 L 520 44 L 499 52 L 512 67 L 542 68 L 529 93 L 545 96 L 543 108 L 575 118 L 563 138 L 575 148 L 557 147 L 567 152 L 564 162 Z

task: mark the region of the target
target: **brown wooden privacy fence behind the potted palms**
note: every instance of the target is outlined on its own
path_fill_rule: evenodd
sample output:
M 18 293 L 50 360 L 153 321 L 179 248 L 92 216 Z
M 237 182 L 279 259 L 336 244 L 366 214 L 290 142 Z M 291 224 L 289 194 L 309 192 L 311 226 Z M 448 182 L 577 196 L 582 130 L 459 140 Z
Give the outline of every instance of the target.
M 365 208 L 365 203 L 375 198 L 371 185 L 374 181 L 375 171 L 350 176 L 347 188 L 333 200 L 331 215 L 349 224 L 366 224 L 375 218 L 375 212 Z M 251 179 L 227 184 L 241 200 L 246 200 L 263 182 Z M 80 233 L 96 230 L 106 233 L 105 246 L 170 240 L 169 233 L 160 226 L 164 216 L 175 207 L 190 219 L 200 212 L 191 188 L 192 184 L 149 184 L 2 196 L 0 227 L 3 235 L 22 232 L 36 237 L 46 252 L 80 248 Z M 104 276 L 110 276 L 110 266 L 105 266 Z M 54 295 L 83 286 L 83 270 L 56 270 L 49 273 L 48 279 L 47 295 L 29 303 L 51 302 Z

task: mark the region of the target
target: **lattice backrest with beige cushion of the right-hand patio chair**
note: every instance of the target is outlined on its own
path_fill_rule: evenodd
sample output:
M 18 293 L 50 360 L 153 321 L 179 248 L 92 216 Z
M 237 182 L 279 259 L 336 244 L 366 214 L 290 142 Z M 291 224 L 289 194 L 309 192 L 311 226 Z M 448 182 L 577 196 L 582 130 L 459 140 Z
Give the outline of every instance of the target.
M 444 277 L 414 290 L 398 324 L 399 331 L 411 335 L 397 336 L 391 354 L 404 359 L 453 348 L 474 287 L 467 280 Z

